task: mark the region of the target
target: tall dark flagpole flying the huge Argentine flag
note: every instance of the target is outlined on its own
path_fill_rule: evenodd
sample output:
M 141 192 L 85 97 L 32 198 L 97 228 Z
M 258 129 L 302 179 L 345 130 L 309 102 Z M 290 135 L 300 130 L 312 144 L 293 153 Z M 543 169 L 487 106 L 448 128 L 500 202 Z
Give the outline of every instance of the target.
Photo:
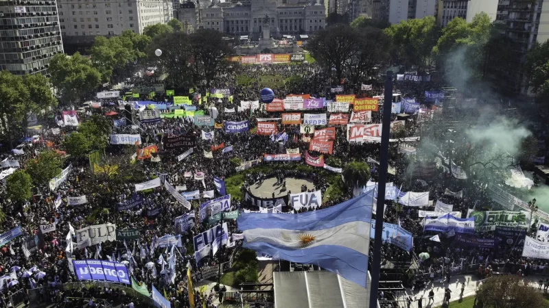
M 389 165 L 389 134 L 390 114 L 393 104 L 393 71 L 388 70 L 385 79 L 385 98 L 383 102 L 382 142 L 379 150 L 379 169 L 377 174 L 377 205 L 375 213 L 375 237 L 373 248 L 373 261 L 371 268 L 372 281 L 370 284 L 370 308 L 377 308 L 377 290 L 379 290 L 379 268 L 381 267 L 383 212 L 385 206 L 385 187 L 387 183 L 387 168 Z M 370 217 L 367 217 L 368 219 Z M 366 281 L 367 283 L 367 281 Z

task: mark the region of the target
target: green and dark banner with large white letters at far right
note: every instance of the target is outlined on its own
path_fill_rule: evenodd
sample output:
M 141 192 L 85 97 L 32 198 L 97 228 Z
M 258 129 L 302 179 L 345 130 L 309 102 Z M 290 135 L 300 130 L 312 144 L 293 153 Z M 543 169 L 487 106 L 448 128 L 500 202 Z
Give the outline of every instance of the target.
M 474 211 L 477 232 L 495 231 L 495 227 L 515 227 L 528 229 L 530 227 L 529 211 Z

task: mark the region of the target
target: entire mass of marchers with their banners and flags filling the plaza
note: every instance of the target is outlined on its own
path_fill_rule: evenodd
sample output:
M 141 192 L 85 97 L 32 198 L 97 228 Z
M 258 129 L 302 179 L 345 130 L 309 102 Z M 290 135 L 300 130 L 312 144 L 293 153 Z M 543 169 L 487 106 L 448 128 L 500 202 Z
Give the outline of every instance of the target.
M 274 259 L 314 264 L 366 286 L 369 243 L 357 239 L 373 238 L 382 86 L 369 82 L 349 94 L 316 64 L 237 69 L 254 81 L 239 85 L 235 75 L 224 75 L 211 88 L 178 93 L 159 82 L 132 80 L 132 88 L 99 92 L 84 106 L 60 107 L 54 118 L 29 129 L 19 146 L 2 146 L 2 307 L 29 300 L 73 307 L 106 302 L 214 307 L 218 294 L 193 284 L 215 282 L 218 268 L 229 270 L 242 246 Z M 273 87 L 274 99 L 263 103 L 259 80 L 265 75 L 302 78 Z M 535 219 L 524 201 L 505 188 L 464 190 L 456 184 L 463 178 L 458 166 L 448 170 L 434 157 L 416 156 L 417 127 L 442 116 L 444 93 L 434 80 L 401 79 L 395 90 L 405 98 L 393 103 L 390 125 L 392 131 L 403 128 L 398 138 L 406 142 L 389 157 L 382 261 L 417 260 L 413 287 L 450 281 L 471 269 L 481 277 L 546 273 L 543 251 L 549 248 L 541 241 L 548 241 L 549 227 L 539 224 L 537 238 L 526 236 Z M 413 99 L 420 94 L 423 101 Z M 34 188 L 30 200 L 10 200 L 5 179 L 14 170 L 47 149 L 65 155 L 62 140 L 97 116 L 110 123 L 104 153 L 90 153 L 89 162 L 70 163 L 68 157 L 62 172 Z M 106 172 L 106 162 L 116 161 L 113 157 L 137 164 L 145 177 L 116 182 L 95 177 Z M 329 166 L 329 157 L 340 166 Z M 231 163 L 235 158 L 240 166 Z M 329 183 L 320 170 L 341 173 L 352 161 L 369 164 L 369 181 L 327 198 Z M 417 177 L 405 181 L 411 162 L 420 166 Z M 272 166 L 270 172 L 247 173 L 264 164 Z M 297 164 L 318 172 L 296 170 Z M 263 206 L 267 203 L 227 192 L 225 179 L 237 172 L 246 173 L 239 188 L 243 196 L 269 177 L 281 183 L 305 178 L 316 188 L 290 191 L 283 202 Z M 338 232 L 347 224 L 358 228 Z M 369 226 L 371 233 L 356 231 Z M 541 248 L 523 251 L 528 241 Z M 333 257 L 309 257 L 326 252 Z M 100 284 L 105 281 L 112 284 Z

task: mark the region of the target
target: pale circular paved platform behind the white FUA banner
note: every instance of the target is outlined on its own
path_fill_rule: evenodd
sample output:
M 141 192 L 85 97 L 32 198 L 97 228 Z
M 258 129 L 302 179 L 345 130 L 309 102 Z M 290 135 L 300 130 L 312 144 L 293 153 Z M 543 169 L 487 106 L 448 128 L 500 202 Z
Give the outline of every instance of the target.
M 285 187 L 281 183 L 277 184 L 276 177 L 270 177 L 265 179 L 262 183 L 259 181 L 250 185 L 248 190 L 250 194 L 253 194 L 257 198 L 272 198 L 274 192 L 274 198 L 279 196 L 285 196 L 288 192 L 292 194 L 299 194 L 301 192 L 301 185 L 307 185 L 307 190 L 314 190 L 314 184 L 308 179 L 296 179 L 295 177 L 287 177 Z

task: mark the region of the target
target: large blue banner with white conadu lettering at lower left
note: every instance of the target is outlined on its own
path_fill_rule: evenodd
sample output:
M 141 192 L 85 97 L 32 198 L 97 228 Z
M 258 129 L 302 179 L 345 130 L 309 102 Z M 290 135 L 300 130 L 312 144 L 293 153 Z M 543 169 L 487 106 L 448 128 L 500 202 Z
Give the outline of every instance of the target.
M 73 260 L 78 280 L 102 280 L 130 284 L 128 269 L 124 264 L 103 260 Z

